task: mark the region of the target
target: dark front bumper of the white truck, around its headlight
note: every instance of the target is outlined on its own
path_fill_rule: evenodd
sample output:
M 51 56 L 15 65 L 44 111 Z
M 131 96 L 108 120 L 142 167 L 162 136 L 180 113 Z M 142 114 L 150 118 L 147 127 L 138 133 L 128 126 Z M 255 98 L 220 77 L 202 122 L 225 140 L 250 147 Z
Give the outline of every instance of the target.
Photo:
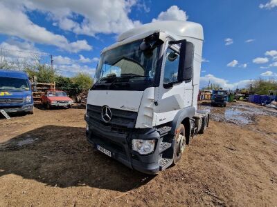
M 162 138 L 159 132 L 154 128 L 133 129 L 129 133 L 111 132 L 110 128 L 94 126 L 87 120 L 89 128 L 86 130 L 87 140 L 95 148 L 101 146 L 111 152 L 111 157 L 120 161 L 125 166 L 138 170 L 145 174 L 157 174 L 161 167 L 159 161 L 162 154 L 159 152 L 159 146 Z M 150 155 L 140 155 L 132 150 L 132 139 L 156 139 L 154 152 Z

